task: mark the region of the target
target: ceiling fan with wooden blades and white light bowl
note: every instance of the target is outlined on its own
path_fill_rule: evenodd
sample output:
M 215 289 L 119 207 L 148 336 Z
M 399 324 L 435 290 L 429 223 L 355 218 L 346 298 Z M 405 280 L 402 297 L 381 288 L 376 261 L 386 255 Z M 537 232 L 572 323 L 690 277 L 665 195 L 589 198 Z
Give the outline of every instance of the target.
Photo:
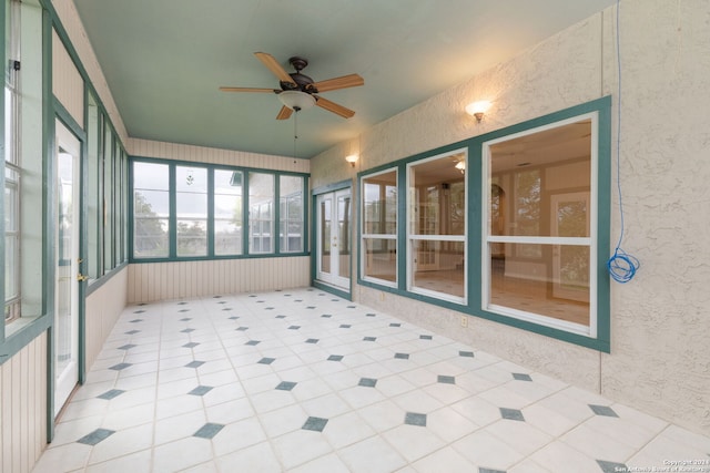
M 358 74 L 348 74 L 341 78 L 314 82 L 313 79 L 301 73 L 301 71 L 308 65 L 308 61 L 303 58 L 294 56 L 288 59 L 288 62 L 296 72 L 287 73 L 273 55 L 266 52 L 255 52 L 254 55 L 266 68 L 268 68 L 276 78 L 278 78 L 281 89 L 220 88 L 221 91 L 275 93 L 284 104 L 281 107 L 278 115 L 276 115 L 276 120 L 287 120 L 294 111 L 298 112 L 313 105 L 317 105 L 321 109 L 333 112 L 344 119 L 349 119 L 355 115 L 354 111 L 316 94 L 363 85 L 365 80 Z

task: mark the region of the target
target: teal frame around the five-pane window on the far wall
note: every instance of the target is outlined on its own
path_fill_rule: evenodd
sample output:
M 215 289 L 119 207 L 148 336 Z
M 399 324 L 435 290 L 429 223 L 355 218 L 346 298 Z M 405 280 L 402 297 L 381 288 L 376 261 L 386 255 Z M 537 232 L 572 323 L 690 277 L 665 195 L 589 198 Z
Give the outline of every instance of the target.
M 144 156 L 129 156 L 129 213 L 128 213 L 128 253 L 129 253 L 129 263 L 132 264 L 142 264 L 142 263 L 165 263 L 165 261 L 194 261 L 194 260 L 216 260 L 216 259 L 243 259 L 243 258 L 264 258 L 264 257 L 291 257 L 291 256 L 307 256 L 308 248 L 305 245 L 305 241 L 308 239 L 308 228 L 306 225 L 308 218 L 307 207 L 304 205 L 303 208 L 303 247 L 300 251 L 291 251 L 287 248 L 281 248 L 280 238 L 276 238 L 280 235 L 281 227 L 285 223 L 285 220 L 281 216 L 281 202 L 282 197 L 287 197 L 286 195 L 281 196 L 281 186 L 280 181 L 281 176 L 295 176 L 303 179 L 303 187 L 301 189 L 301 194 L 304 196 L 303 202 L 305 203 L 305 196 L 307 195 L 308 189 L 308 179 L 310 174 L 307 173 L 293 173 L 293 172 L 284 172 L 284 171 L 274 171 L 274 169 L 263 169 L 263 168 L 253 168 L 253 167 L 242 167 L 242 166 L 225 166 L 220 164 L 212 163 L 201 163 L 201 162 L 185 162 L 178 160 L 164 160 L 164 158 L 154 158 L 154 157 L 144 157 Z M 166 256 L 161 257 L 136 257 L 134 251 L 134 225 L 135 225 L 135 215 L 134 215 L 134 202 L 133 202 L 133 192 L 134 192 L 134 163 L 154 163 L 166 165 L 170 173 L 170 184 L 169 184 L 169 228 L 168 228 L 168 240 L 169 240 L 169 250 Z M 207 214 L 206 214 L 206 238 L 207 238 L 207 253 L 204 256 L 179 256 L 178 255 L 178 238 L 176 238 L 176 177 L 175 169 L 178 166 L 186 166 L 193 168 L 205 168 L 207 171 Z M 214 198 L 215 198 L 215 184 L 214 184 L 214 172 L 215 171 L 227 171 L 233 173 L 241 173 L 242 182 L 241 182 L 241 200 L 242 200 L 242 212 L 241 212 L 241 228 L 242 228 L 242 238 L 241 238 L 241 248 L 236 254 L 216 254 L 215 251 L 215 212 L 214 212 Z M 273 224 L 273 230 L 271 233 L 271 250 L 270 251 L 250 251 L 250 175 L 253 174 L 265 174 L 270 175 L 274 182 L 274 199 L 271 207 L 271 217 L 270 220 Z

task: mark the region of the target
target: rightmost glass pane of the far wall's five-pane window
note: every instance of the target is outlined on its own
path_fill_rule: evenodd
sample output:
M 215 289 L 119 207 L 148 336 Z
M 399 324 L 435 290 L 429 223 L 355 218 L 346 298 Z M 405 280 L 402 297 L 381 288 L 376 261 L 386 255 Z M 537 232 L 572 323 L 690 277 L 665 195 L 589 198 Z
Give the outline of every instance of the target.
M 281 253 L 303 251 L 303 177 L 280 176 Z

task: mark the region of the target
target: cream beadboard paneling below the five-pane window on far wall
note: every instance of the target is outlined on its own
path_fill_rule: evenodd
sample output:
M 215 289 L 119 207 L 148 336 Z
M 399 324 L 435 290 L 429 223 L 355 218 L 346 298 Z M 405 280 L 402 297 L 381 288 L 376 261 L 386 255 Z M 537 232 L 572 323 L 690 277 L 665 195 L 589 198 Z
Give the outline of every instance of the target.
M 132 264 L 128 302 L 152 302 L 308 286 L 310 257 Z

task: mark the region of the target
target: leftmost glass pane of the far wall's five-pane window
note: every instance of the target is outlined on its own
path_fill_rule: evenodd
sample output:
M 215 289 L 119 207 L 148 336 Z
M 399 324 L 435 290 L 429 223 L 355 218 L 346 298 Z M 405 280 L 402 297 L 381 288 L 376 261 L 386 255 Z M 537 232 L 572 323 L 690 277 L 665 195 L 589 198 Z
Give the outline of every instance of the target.
M 170 178 L 166 164 L 133 163 L 133 257 L 168 257 Z

